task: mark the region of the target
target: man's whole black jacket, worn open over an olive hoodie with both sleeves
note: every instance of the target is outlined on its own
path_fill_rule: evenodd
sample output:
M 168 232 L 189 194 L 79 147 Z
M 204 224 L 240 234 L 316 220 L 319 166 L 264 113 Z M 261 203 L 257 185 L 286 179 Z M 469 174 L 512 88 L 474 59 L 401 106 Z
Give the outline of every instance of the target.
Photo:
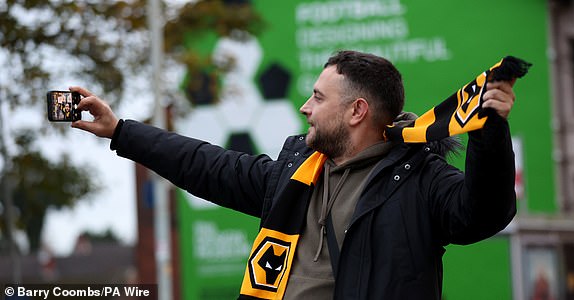
M 198 197 L 262 220 L 313 152 L 294 136 L 272 160 L 134 121 L 118 126 L 111 147 Z M 512 220 L 514 154 L 505 120 L 490 117 L 469 134 L 465 173 L 437 149 L 400 144 L 372 172 L 341 248 L 336 299 L 440 299 L 443 247 L 483 240 Z

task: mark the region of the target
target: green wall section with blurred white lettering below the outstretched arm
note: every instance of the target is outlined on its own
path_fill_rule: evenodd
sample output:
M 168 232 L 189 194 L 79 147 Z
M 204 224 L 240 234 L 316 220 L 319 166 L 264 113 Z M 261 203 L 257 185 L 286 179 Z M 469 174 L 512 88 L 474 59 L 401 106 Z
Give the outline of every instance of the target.
M 183 299 L 235 299 L 258 219 L 224 208 L 193 207 L 178 195 Z

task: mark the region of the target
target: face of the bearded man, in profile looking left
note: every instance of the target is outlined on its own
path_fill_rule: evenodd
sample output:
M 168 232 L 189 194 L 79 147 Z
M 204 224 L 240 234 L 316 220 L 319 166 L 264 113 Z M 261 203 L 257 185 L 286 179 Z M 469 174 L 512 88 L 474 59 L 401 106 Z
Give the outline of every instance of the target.
M 300 108 L 309 123 L 307 145 L 333 159 L 343 155 L 349 143 L 343 81 L 335 66 L 325 68 L 315 82 L 313 95 Z

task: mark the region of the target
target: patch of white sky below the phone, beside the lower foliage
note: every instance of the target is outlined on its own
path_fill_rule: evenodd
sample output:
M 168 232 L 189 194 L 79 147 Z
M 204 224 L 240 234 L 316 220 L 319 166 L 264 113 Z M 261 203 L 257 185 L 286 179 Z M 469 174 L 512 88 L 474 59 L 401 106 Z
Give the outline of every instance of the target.
M 44 224 L 43 241 L 56 255 L 67 255 L 84 231 L 103 233 L 110 229 L 122 243 L 133 245 L 136 237 L 134 164 L 109 149 L 109 142 L 70 128 L 65 143 L 52 137 L 43 146 L 71 152 L 74 161 L 87 164 L 101 191 L 74 207 L 50 210 Z

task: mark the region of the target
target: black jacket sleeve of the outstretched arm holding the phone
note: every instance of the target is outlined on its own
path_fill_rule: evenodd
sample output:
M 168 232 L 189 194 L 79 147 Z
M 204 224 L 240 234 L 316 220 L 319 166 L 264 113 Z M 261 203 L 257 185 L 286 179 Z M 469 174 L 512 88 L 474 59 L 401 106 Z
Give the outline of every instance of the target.
M 225 150 L 136 121 L 120 124 L 111 148 L 189 193 L 218 205 L 260 217 L 267 174 L 266 155 Z

